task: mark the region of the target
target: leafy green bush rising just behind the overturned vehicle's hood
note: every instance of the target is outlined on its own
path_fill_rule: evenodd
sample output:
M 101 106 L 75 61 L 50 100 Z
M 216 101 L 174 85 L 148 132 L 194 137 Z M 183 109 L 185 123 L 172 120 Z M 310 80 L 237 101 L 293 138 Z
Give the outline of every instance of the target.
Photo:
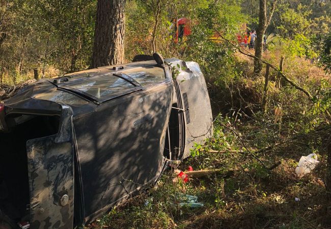
M 235 49 L 219 35 L 236 40 L 236 34 L 242 32 L 240 28 L 245 23 L 245 16 L 240 13 L 238 5 L 226 1 L 199 9 L 194 20 L 185 59 L 198 62 L 206 77 L 225 87 L 237 76 L 233 68 Z M 221 75 L 224 77 L 219 77 Z

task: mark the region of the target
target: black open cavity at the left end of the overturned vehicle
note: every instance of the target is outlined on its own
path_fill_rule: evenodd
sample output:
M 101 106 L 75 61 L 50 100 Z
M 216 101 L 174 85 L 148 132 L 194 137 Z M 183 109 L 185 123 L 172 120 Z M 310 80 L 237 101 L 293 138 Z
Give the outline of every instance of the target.
M 7 118 L 7 123 L 10 131 L 0 133 L 0 228 L 11 228 L 8 223 L 29 221 L 26 141 L 56 134 L 59 117 L 14 114 Z M 12 221 L 4 222 L 8 218 Z

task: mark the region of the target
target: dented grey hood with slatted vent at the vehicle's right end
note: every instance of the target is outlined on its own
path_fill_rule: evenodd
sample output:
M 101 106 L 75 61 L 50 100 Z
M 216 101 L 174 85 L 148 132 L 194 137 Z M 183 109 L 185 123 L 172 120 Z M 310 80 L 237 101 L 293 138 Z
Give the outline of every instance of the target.
M 184 62 L 176 58 L 165 61 L 179 70 L 177 82 L 185 110 L 183 158 L 186 158 L 190 155 L 190 149 L 194 147 L 195 142 L 202 143 L 213 133 L 213 118 L 207 85 L 197 63 Z

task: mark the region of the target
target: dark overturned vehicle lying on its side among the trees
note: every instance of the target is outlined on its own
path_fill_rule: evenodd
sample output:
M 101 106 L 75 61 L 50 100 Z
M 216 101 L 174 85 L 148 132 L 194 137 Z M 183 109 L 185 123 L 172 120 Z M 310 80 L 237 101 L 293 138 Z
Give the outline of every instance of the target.
M 199 65 L 154 56 L 42 79 L 0 103 L 0 228 L 89 223 L 212 134 Z

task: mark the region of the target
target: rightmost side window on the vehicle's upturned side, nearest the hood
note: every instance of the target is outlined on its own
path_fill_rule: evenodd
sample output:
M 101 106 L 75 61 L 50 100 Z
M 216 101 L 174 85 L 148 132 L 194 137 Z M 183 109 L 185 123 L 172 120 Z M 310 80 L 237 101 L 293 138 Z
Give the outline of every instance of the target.
M 143 86 L 158 83 L 166 79 L 164 69 L 159 67 L 131 69 L 123 71 L 123 73 L 130 76 Z

